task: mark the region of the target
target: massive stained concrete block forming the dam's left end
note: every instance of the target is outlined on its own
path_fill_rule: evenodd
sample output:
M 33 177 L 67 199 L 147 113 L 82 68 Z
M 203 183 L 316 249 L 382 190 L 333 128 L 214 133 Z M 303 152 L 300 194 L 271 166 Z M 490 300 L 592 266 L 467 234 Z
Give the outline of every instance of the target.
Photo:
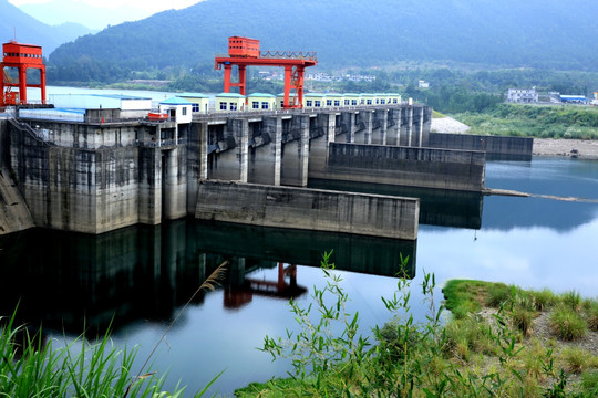
M 48 140 L 42 125 L 10 128 L 10 169 L 37 226 L 97 234 L 187 214 L 185 146 L 138 146 L 150 133 L 136 124 L 43 126 Z

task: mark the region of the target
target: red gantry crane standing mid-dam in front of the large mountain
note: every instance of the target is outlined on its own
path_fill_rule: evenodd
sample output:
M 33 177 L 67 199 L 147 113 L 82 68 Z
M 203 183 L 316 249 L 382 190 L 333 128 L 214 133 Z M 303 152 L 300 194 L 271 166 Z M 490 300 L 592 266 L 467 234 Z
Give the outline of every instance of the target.
M 282 107 L 300 108 L 303 106 L 303 75 L 308 66 L 318 63 L 315 52 L 280 52 L 259 51 L 259 40 L 249 38 L 228 38 L 228 56 L 216 56 L 215 69 L 225 69 L 225 93 L 230 87 L 239 87 L 239 94 L 245 95 L 246 69 L 254 66 L 285 67 L 285 100 Z M 239 82 L 230 83 L 233 65 L 239 70 Z M 295 90 L 295 100 L 290 102 L 290 92 Z

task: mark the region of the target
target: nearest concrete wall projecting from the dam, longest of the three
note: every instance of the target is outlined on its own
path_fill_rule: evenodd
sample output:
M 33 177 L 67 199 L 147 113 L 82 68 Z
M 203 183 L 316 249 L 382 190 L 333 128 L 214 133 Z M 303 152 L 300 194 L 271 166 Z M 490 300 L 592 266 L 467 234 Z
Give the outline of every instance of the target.
M 419 213 L 413 198 L 204 180 L 195 217 L 415 240 Z

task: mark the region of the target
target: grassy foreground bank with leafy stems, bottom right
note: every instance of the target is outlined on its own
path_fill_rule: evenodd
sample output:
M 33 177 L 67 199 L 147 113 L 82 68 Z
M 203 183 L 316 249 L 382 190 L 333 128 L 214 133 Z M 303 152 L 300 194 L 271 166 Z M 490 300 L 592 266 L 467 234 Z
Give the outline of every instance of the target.
M 598 303 L 575 292 L 556 295 L 499 283 L 451 281 L 443 290 L 453 312 L 440 323 L 434 277 L 421 286 L 427 322 L 410 312 L 409 282 L 385 298 L 393 321 L 357 333 L 359 314 L 347 314 L 341 280 L 329 284 L 313 306 L 291 311 L 302 332 L 266 337 L 262 349 L 292 360 L 286 379 L 251 384 L 237 397 L 595 397 L 598 394 Z M 310 311 L 320 314 L 313 323 Z M 337 324 L 337 326 L 333 326 Z M 334 334 L 331 331 L 343 332 Z

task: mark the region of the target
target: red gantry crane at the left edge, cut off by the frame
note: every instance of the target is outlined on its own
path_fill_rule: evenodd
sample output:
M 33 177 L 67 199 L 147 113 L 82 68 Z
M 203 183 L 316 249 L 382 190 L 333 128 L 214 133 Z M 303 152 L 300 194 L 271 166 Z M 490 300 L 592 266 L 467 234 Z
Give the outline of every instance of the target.
M 0 63 L 2 78 L 0 81 L 0 106 L 27 104 L 27 87 L 41 88 L 41 101 L 45 103 L 45 65 L 43 64 L 42 48 L 33 44 L 21 44 L 10 41 L 2 44 L 3 61 Z M 16 67 L 19 81 L 14 83 L 7 75 L 4 67 Z M 27 84 L 27 70 L 40 70 L 40 84 Z M 19 93 L 11 91 L 19 87 Z

